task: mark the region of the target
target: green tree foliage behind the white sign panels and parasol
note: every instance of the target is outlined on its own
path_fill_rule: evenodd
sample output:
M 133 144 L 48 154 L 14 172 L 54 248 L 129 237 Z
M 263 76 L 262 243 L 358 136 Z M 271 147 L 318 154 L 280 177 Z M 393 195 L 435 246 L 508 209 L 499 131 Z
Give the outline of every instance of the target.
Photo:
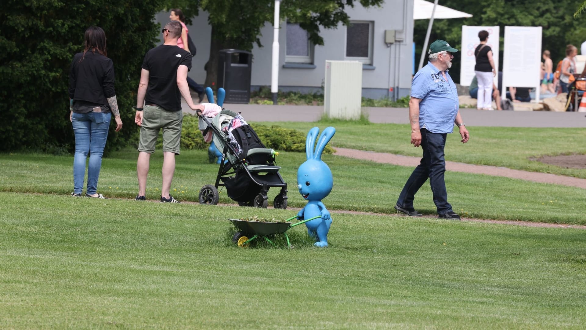
M 471 18 L 436 19 L 431 31 L 430 43 L 435 39 L 448 41 L 461 48 L 462 25 L 500 26 L 499 68 L 502 68 L 505 26 L 543 26 L 542 50 L 551 52 L 554 63 L 565 56 L 565 46 L 571 43 L 578 48 L 586 40 L 586 26 L 581 19 L 574 19 L 575 0 L 442 0 L 440 5 L 472 14 Z M 414 42 L 417 63 L 427 31 L 427 19 L 415 21 Z M 456 55 L 456 62 L 458 55 Z M 459 82 L 459 65 L 452 67 L 451 76 Z

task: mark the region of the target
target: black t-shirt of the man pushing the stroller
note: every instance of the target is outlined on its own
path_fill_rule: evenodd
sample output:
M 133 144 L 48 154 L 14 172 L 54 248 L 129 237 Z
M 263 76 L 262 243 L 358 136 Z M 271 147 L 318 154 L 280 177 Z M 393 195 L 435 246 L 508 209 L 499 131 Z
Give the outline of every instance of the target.
M 181 110 L 181 93 L 177 86 L 177 68 L 191 70 L 192 55 L 178 46 L 161 45 L 147 52 L 142 69 L 148 70 L 145 104 L 156 104 L 167 111 Z

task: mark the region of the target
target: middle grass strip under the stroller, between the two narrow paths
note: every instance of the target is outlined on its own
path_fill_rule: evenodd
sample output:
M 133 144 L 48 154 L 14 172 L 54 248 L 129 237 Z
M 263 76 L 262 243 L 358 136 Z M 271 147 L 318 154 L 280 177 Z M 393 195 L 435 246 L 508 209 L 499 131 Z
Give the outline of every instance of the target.
M 112 153 L 102 163 L 98 192 L 107 197 L 134 198 L 137 194 L 135 150 Z M 289 184 L 289 206 L 303 207 L 297 191 L 297 167 L 304 153 L 278 156 L 280 171 Z M 395 213 L 393 206 L 413 170 L 346 157 L 324 155 L 334 177 L 332 193 L 324 203 L 331 210 Z M 73 191 L 73 157 L 43 154 L 0 154 L 0 191 L 54 193 Z M 158 200 L 161 192 L 162 153 L 152 156 L 147 198 Z M 177 158 L 171 194 L 179 200 L 197 201 L 198 190 L 213 184 L 218 166 L 207 163 L 206 151 L 183 151 Z M 464 217 L 497 220 L 586 224 L 584 189 L 468 173 L 446 173 L 449 201 Z M 269 191 L 270 205 L 279 189 Z M 220 193 L 220 203 L 236 202 Z M 424 214 L 436 214 L 431 189 L 426 183 L 415 198 Z M 294 214 L 293 214 L 294 215 Z M 291 215 L 292 216 L 292 215 Z

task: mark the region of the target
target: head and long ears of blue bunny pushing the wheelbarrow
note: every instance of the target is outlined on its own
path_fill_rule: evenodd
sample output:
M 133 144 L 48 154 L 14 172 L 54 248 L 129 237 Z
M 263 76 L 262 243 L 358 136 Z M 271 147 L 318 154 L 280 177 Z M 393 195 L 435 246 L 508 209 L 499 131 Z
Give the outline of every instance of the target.
M 307 160 L 299 166 L 297 171 L 297 188 L 303 198 L 310 201 L 319 201 L 328 196 L 333 187 L 332 171 L 322 161 L 322 152 L 326 144 L 332 139 L 336 129 L 326 127 L 319 137 L 314 150 L 315 140 L 319 134 L 319 128 L 314 127 L 307 134 L 305 152 Z

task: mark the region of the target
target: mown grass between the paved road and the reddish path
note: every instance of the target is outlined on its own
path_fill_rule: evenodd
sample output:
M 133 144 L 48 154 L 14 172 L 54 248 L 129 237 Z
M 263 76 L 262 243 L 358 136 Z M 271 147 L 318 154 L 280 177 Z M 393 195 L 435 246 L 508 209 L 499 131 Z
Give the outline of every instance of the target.
M 406 113 L 407 116 L 407 113 Z M 311 127 L 336 127 L 333 146 L 421 157 L 421 148 L 410 144 L 408 124 L 363 124 L 323 120 L 318 123 L 276 124 L 308 132 Z M 558 154 L 586 154 L 586 128 L 468 127 L 471 138 L 460 143 L 458 130 L 448 134 L 445 159 L 461 163 L 508 167 L 586 179 L 586 169 L 563 167 L 530 160 L 532 157 Z

